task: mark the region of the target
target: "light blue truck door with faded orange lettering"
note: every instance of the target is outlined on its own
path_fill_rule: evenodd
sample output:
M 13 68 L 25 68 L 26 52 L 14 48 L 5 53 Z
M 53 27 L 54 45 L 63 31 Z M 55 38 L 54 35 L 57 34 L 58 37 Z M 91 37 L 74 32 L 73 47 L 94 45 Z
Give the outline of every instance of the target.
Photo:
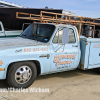
M 72 70 L 77 68 L 79 63 L 79 47 L 77 42 L 77 36 L 73 27 L 67 28 L 66 38 L 68 43 L 62 43 L 62 36 L 64 28 L 59 28 L 52 40 L 52 58 L 51 58 L 51 70 L 50 72 Z M 69 33 L 68 33 L 69 32 Z

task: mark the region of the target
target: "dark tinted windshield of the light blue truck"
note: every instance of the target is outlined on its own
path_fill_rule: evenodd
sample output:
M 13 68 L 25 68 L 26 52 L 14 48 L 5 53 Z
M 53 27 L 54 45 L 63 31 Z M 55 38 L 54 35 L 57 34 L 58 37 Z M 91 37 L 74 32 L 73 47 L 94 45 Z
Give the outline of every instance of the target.
M 48 42 L 54 32 L 55 26 L 48 24 L 31 24 L 20 37 Z

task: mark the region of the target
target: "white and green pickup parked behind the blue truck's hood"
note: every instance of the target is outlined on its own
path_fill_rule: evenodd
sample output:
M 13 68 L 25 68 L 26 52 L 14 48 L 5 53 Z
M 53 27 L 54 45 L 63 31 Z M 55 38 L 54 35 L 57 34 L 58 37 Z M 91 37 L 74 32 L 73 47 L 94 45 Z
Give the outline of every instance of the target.
M 0 38 L 3 37 L 16 37 L 19 36 L 23 31 L 22 30 L 11 30 L 4 28 L 2 22 L 0 21 Z

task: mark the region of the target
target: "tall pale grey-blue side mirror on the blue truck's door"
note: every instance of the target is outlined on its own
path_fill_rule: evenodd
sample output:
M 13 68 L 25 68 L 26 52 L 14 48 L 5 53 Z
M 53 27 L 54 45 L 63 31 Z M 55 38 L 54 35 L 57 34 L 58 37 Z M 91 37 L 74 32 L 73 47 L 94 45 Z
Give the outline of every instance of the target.
M 69 41 L 69 28 L 64 28 L 62 35 L 62 43 L 68 44 L 68 41 Z

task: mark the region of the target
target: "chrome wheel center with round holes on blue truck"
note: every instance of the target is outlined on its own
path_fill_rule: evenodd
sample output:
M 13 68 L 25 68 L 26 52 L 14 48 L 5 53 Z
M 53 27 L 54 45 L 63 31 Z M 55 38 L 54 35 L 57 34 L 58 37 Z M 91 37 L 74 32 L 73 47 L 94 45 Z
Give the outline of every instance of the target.
M 32 76 L 32 70 L 28 66 L 21 66 L 15 73 L 15 80 L 19 84 L 25 84 Z

